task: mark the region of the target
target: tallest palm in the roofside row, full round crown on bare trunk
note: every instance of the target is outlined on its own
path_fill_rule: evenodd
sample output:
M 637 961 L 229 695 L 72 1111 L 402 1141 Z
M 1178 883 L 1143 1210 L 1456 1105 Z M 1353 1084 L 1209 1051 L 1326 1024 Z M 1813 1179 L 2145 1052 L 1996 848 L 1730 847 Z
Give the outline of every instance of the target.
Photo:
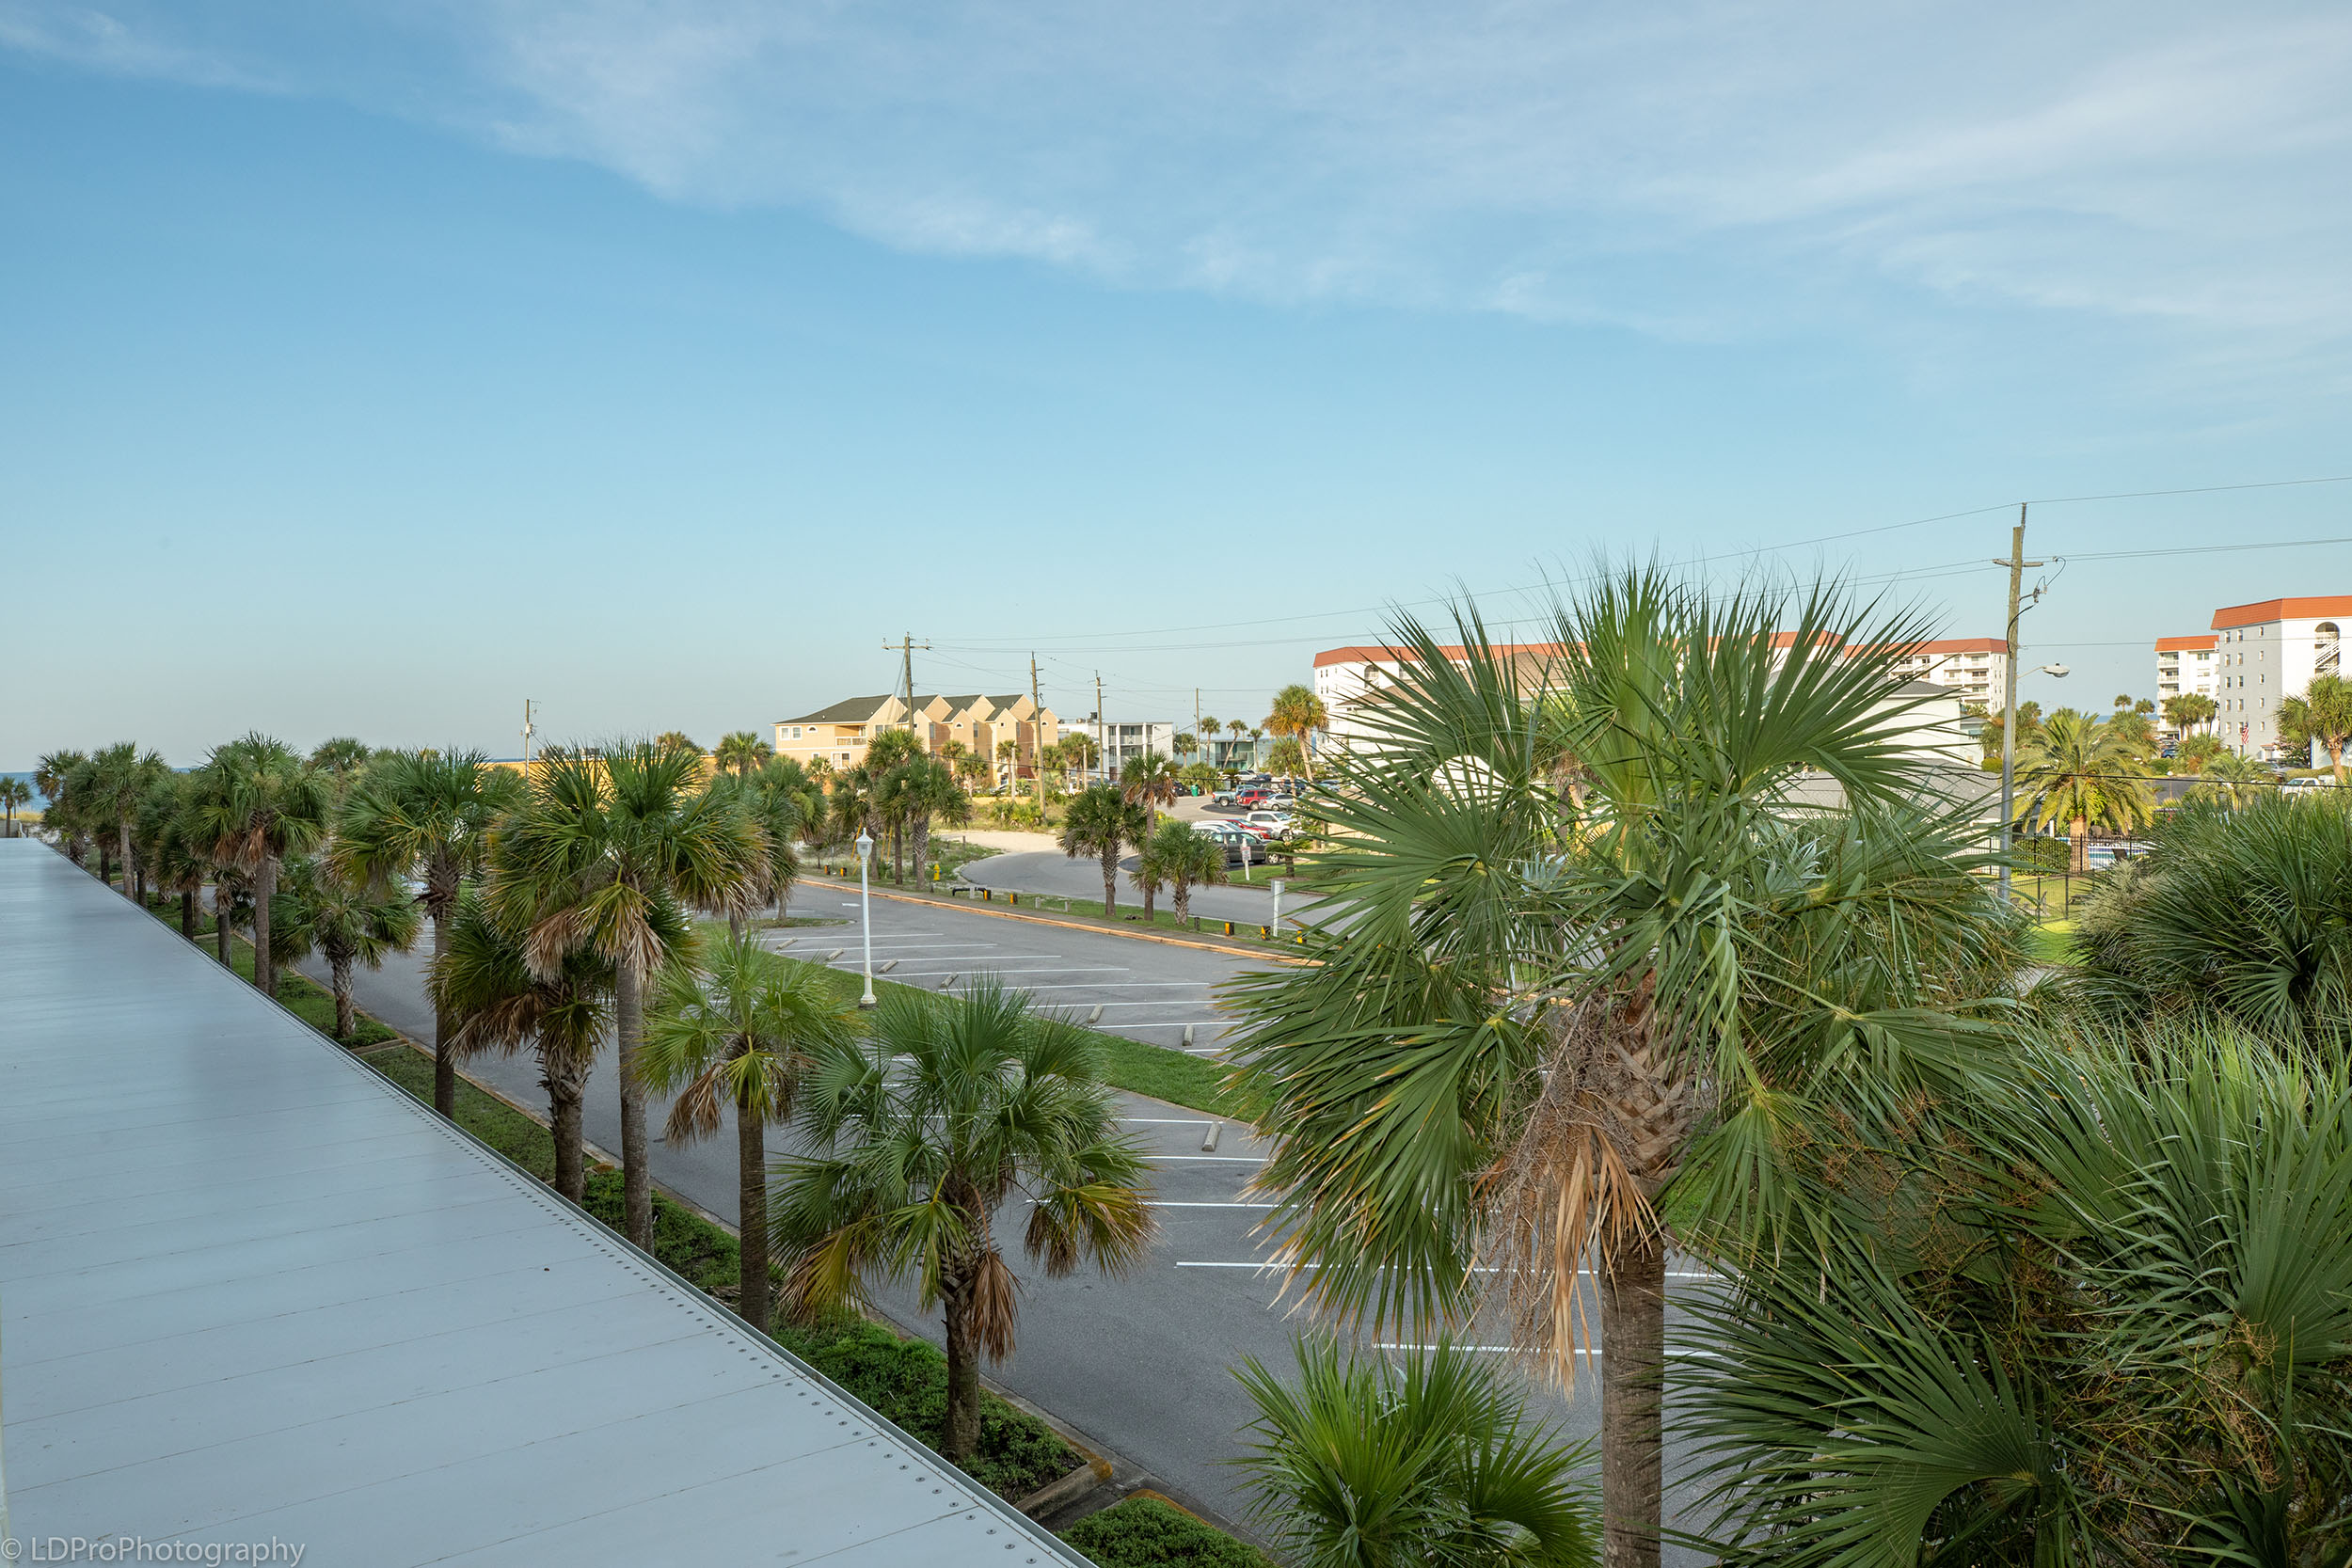
M 734 792 L 701 788 L 703 757 L 652 741 L 602 748 L 600 762 L 553 762 L 499 827 L 489 858 L 492 912 L 524 931 L 541 980 L 586 947 L 612 961 L 621 1056 L 621 1194 L 628 1239 L 654 1244 L 644 1166 L 644 987 L 687 961 L 687 907 L 746 910 L 767 884 L 769 844 Z

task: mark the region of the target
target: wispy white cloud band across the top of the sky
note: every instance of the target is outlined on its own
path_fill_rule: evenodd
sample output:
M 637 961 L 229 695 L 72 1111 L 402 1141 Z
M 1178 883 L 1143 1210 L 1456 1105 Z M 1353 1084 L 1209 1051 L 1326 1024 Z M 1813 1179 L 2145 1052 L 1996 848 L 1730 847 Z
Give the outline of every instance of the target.
M 1677 336 L 1929 296 L 2352 327 L 2352 12 L 428 0 L 0 45 L 339 92 L 696 205 L 1141 287 Z M 299 40 L 299 42 L 287 42 Z M 393 40 L 395 47 L 386 47 Z

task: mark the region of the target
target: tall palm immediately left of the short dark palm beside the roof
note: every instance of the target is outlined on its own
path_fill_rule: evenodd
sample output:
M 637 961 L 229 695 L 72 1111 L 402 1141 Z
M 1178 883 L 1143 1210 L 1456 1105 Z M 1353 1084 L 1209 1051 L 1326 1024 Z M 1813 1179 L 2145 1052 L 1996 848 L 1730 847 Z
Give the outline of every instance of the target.
M 522 780 L 482 752 L 390 752 L 343 797 L 332 851 L 336 870 L 379 893 L 414 877 L 437 959 L 449 945 L 459 891 L 482 870 L 492 825 L 520 802 Z M 456 1117 L 452 1032 L 435 1006 L 433 1110 L 442 1117 Z

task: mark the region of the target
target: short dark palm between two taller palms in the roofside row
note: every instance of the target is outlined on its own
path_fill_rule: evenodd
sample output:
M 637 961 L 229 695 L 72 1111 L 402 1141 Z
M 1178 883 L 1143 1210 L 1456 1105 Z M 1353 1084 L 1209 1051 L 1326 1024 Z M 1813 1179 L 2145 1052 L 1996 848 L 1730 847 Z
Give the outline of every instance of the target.
M 449 1039 L 459 1056 L 532 1044 L 539 1086 L 548 1091 L 555 1190 L 581 1204 L 588 1197 L 581 1107 L 597 1046 L 612 1027 L 614 966 L 593 947 L 574 947 L 541 976 L 524 959 L 524 940 L 522 929 L 494 917 L 477 889 L 466 889 L 449 917 L 449 940 L 428 971 L 433 1011 L 456 1023 Z

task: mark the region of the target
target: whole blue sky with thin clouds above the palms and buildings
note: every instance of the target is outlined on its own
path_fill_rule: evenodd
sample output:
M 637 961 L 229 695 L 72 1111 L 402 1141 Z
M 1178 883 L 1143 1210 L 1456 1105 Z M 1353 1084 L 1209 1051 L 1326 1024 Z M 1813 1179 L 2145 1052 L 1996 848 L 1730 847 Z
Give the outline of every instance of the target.
M 2060 14 L 2051 14 L 2051 12 Z M 0 0 L 0 766 L 1258 717 L 1597 552 L 1999 630 L 2018 498 L 2352 473 L 2352 14 Z M 2044 701 L 2352 484 L 2039 508 Z M 1900 576 L 1891 576 L 1900 574 Z

